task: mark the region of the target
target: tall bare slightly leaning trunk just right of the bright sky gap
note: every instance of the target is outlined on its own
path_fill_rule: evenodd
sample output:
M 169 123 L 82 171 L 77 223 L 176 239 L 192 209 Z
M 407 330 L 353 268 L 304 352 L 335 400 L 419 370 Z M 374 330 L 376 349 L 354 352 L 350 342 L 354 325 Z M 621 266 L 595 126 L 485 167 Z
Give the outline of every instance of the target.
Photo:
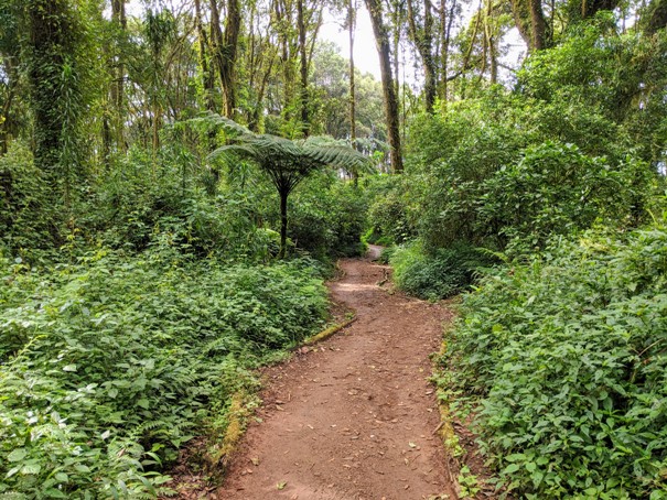
M 387 119 L 387 132 L 391 148 L 391 169 L 395 173 L 402 172 L 402 156 L 400 146 L 400 131 L 398 120 L 398 99 L 396 86 L 391 76 L 391 57 L 389 53 L 389 35 L 383 22 L 383 7 L 380 0 L 364 0 L 370 14 L 373 32 L 377 44 L 383 79 L 383 97 Z

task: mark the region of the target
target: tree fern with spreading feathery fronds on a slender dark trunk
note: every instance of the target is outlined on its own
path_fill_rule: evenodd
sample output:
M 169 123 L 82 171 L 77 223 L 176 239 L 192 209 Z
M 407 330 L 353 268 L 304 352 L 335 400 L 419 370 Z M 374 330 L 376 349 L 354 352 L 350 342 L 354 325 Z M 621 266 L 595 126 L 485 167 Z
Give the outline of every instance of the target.
M 288 197 L 301 181 L 325 166 L 336 166 L 348 172 L 372 170 L 366 156 L 330 138 L 313 137 L 291 141 L 271 134 L 252 133 L 217 115 L 208 119 L 222 126 L 230 138 L 230 143 L 215 150 L 209 159 L 252 161 L 269 175 L 276 186 L 280 197 L 280 258 L 287 254 Z

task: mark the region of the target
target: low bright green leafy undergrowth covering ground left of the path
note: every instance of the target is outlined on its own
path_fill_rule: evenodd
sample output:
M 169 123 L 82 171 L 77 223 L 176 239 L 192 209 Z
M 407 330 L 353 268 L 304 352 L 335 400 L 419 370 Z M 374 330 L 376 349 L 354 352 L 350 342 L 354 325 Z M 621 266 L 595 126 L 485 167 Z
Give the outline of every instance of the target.
M 322 325 L 308 264 L 181 256 L 162 241 L 45 271 L 2 259 L 0 494 L 165 491 L 161 466 L 255 383 L 247 369 Z

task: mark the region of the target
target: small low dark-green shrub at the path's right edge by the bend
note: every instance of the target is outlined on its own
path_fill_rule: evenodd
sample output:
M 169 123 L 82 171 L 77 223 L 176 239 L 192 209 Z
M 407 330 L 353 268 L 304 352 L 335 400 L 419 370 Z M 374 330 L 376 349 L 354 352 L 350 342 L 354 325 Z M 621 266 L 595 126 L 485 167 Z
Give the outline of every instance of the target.
M 420 242 L 412 242 L 397 247 L 389 262 L 399 289 L 418 297 L 439 300 L 465 290 L 488 259 L 463 244 L 426 253 Z

